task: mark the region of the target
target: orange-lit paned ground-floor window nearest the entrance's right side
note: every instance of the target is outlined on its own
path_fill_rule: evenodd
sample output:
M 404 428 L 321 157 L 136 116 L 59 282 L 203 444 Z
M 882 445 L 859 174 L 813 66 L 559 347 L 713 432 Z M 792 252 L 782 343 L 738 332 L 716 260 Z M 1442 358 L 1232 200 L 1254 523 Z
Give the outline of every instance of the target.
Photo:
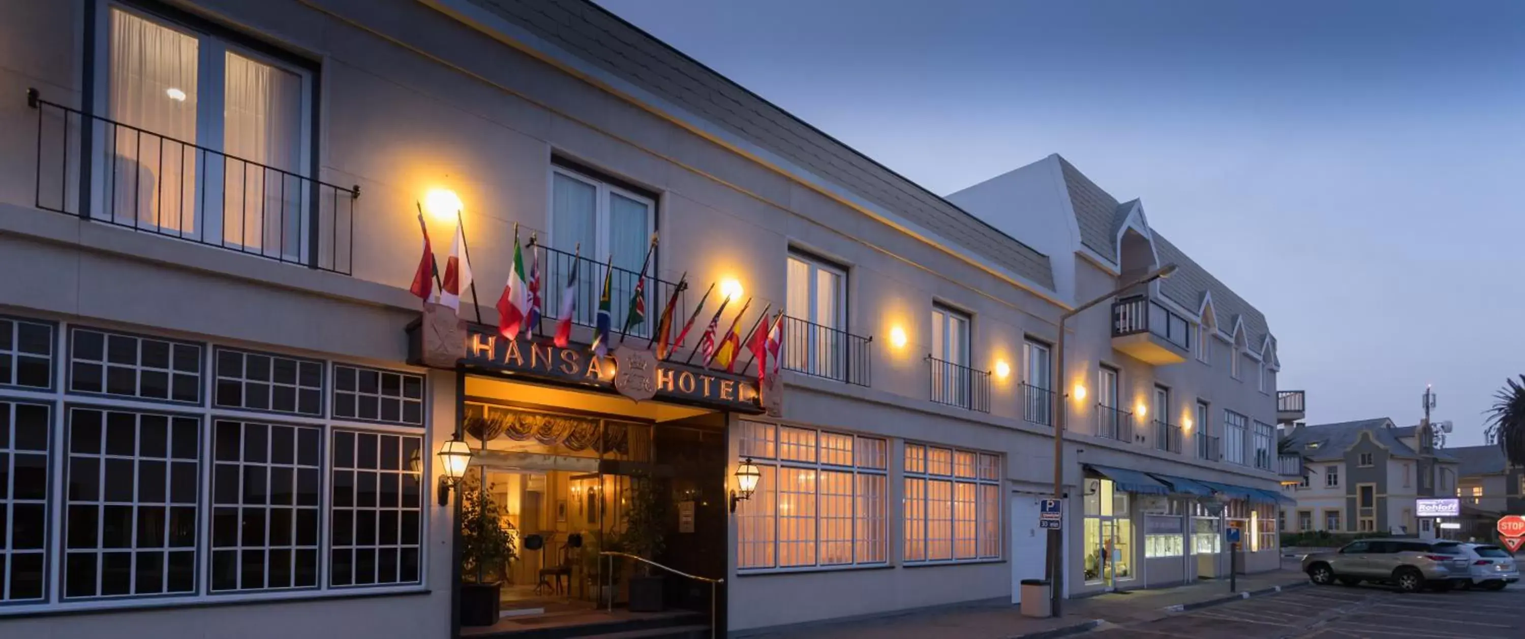
M 762 477 L 737 506 L 737 566 L 886 563 L 888 445 L 880 438 L 741 422 L 741 454 Z

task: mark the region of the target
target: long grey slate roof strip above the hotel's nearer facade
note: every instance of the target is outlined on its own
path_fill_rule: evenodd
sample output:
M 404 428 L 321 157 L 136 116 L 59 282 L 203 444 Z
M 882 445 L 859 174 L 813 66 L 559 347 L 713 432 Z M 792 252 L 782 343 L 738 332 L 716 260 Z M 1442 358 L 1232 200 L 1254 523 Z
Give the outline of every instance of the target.
M 1054 270 L 1046 255 L 598 5 L 587 0 L 473 2 L 608 73 L 875 201 L 993 264 L 1054 290 Z

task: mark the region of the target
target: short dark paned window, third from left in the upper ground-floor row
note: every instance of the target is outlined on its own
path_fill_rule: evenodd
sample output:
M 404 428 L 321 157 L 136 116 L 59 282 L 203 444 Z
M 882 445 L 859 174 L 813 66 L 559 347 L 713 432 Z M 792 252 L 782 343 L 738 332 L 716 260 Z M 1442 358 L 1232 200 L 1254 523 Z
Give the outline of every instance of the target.
M 215 361 L 215 407 L 323 415 L 322 361 L 230 348 L 218 348 Z

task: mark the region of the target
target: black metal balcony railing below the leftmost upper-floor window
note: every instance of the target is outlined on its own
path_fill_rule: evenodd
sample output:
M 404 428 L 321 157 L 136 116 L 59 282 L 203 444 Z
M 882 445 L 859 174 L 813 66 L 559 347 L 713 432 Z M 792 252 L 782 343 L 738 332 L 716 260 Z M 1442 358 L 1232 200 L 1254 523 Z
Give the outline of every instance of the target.
M 35 88 L 26 99 L 37 110 L 38 209 L 352 273 L 358 186 L 49 102 Z

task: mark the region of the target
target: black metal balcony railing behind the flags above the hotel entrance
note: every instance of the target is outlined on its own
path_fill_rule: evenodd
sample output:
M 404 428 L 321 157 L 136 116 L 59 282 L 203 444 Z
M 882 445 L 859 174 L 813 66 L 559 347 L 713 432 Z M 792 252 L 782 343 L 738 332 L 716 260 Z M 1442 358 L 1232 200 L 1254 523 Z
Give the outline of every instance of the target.
M 560 320 L 561 305 L 567 296 L 567 279 L 572 276 L 572 268 L 576 267 L 576 287 L 572 294 L 576 297 L 572 308 L 572 323 L 580 326 L 596 326 L 598 325 L 598 302 L 604 294 L 604 267 L 605 262 L 592 259 L 587 256 L 580 256 L 576 253 L 567 253 L 564 250 L 552 249 L 544 244 L 535 244 L 529 249 L 529 256 L 525 261 L 525 268 L 531 268 L 534 259 L 540 261 L 540 299 L 543 308 L 543 317 L 540 331 L 541 334 L 554 334 L 555 322 Z M 636 282 L 640 282 L 640 271 L 633 271 L 621 267 L 608 267 L 608 316 L 610 328 L 615 332 L 622 332 L 625 328 L 625 319 L 630 317 L 630 299 L 636 294 Z M 677 288 L 677 282 L 669 282 L 660 278 L 653 278 L 650 273 L 645 276 L 645 319 L 630 326 L 630 337 L 650 337 L 656 331 L 657 322 L 662 319 L 662 310 L 666 308 L 666 300 Z M 483 291 L 486 291 L 483 288 Z M 491 297 L 491 299 L 488 299 Z M 688 305 L 686 293 L 679 293 L 677 307 L 673 310 L 673 337 L 677 337 L 677 331 L 688 320 Z M 493 305 L 497 302 L 497 291 L 493 291 L 486 297 L 480 299 L 482 305 Z M 712 300 L 718 302 L 718 296 Z M 724 331 L 730 328 L 730 317 L 741 310 L 732 302 L 726 308 L 726 317 L 721 317 L 720 328 L 717 331 Z M 738 331 L 750 331 L 753 323 L 756 323 L 756 313 L 761 308 L 753 308 L 749 317 L 743 317 Z M 705 332 L 703 323 L 709 320 L 709 316 L 698 317 L 694 320 L 695 326 L 689 331 L 686 342 L 691 345 L 698 343 L 698 336 Z M 715 336 L 718 342 L 723 336 Z M 741 339 L 750 337 L 749 332 L 743 332 Z M 642 343 L 644 346 L 644 343 Z M 673 346 L 676 351 L 679 346 Z

